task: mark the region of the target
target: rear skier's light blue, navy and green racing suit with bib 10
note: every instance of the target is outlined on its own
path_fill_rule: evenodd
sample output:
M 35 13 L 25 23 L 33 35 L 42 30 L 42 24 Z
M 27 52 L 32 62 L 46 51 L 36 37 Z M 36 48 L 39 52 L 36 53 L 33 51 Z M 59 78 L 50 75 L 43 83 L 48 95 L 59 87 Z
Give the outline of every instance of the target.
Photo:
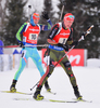
M 16 33 L 16 39 L 18 42 L 23 42 L 23 44 L 30 45 L 22 49 L 22 57 L 20 60 L 20 67 L 14 76 L 14 80 L 17 80 L 23 69 L 26 66 L 27 59 L 30 57 L 33 62 L 36 64 L 40 76 L 45 73 L 42 68 L 41 58 L 38 54 L 38 50 L 36 48 L 39 32 L 41 30 L 50 30 L 52 27 L 52 23 L 50 19 L 47 21 L 48 25 L 37 24 L 33 26 L 30 23 L 24 23 Z M 23 41 L 21 40 L 21 36 L 23 35 Z

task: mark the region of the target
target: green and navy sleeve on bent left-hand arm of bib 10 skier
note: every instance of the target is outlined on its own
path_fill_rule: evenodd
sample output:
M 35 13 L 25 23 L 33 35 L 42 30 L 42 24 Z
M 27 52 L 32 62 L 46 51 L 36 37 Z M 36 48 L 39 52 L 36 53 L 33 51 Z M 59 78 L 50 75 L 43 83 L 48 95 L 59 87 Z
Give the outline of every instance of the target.
M 21 40 L 21 35 L 23 35 L 23 32 L 25 31 L 25 28 L 26 28 L 26 26 L 27 26 L 27 23 L 24 23 L 21 27 L 20 27 L 20 29 L 18 29 L 18 31 L 16 32 L 16 40 L 18 41 L 18 42 L 22 42 L 22 40 Z

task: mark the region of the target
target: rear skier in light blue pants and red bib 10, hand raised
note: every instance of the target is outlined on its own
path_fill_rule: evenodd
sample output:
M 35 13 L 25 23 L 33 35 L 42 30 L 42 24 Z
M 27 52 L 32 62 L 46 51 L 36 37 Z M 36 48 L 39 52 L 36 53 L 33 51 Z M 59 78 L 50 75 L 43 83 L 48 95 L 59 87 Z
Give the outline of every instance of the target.
M 30 57 L 33 59 L 33 62 L 36 64 L 38 70 L 40 72 L 40 76 L 42 77 L 45 75 L 41 58 L 38 54 L 36 45 L 37 45 L 39 32 L 41 30 L 50 30 L 52 27 L 52 23 L 49 19 L 48 13 L 43 13 L 42 17 L 47 19 L 48 25 L 38 24 L 38 22 L 40 19 L 39 14 L 34 13 L 30 17 L 30 23 L 24 23 L 16 33 L 16 39 L 20 43 L 20 46 L 23 46 L 23 45 L 25 45 L 25 46 L 29 45 L 29 46 L 22 49 L 22 57 L 21 57 L 21 62 L 20 62 L 20 67 L 18 67 L 18 70 L 16 71 L 14 79 L 12 81 L 12 84 L 10 86 L 11 92 L 16 92 L 16 89 L 15 89 L 16 82 L 17 82 L 23 69 L 26 66 L 28 57 Z M 21 35 L 23 35 L 23 41 L 21 40 Z M 48 81 L 45 83 L 45 87 L 47 91 L 50 91 Z

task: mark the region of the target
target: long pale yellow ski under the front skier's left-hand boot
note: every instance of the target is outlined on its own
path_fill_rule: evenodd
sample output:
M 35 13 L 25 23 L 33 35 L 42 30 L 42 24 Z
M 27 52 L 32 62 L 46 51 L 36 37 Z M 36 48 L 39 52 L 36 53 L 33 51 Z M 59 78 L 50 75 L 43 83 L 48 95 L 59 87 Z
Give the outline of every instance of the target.
M 34 98 L 13 98 L 13 100 L 35 100 Z M 57 100 L 57 99 L 47 99 L 43 98 L 42 100 L 37 102 L 51 102 L 51 103 L 77 103 L 77 100 Z

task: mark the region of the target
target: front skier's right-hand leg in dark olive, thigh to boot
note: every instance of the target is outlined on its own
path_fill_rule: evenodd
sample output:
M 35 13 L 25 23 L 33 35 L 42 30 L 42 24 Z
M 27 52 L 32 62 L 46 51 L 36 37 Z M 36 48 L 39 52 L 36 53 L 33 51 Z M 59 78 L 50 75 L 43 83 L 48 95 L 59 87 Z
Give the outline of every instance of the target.
M 63 62 L 61 63 L 61 66 L 63 67 L 63 69 L 65 70 L 65 72 L 67 73 L 68 78 L 70 78 L 70 81 L 71 81 L 71 84 L 74 89 L 74 94 L 75 96 L 80 99 L 82 98 L 82 95 L 79 94 L 79 91 L 78 91 L 78 86 L 77 86 L 77 83 L 76 83 L 76 78 L 72 71 L 72 67 L 71 67 L 71 64 L 68 60 L 65 62 L 65 59 L 67 58 L 64 58 Z

